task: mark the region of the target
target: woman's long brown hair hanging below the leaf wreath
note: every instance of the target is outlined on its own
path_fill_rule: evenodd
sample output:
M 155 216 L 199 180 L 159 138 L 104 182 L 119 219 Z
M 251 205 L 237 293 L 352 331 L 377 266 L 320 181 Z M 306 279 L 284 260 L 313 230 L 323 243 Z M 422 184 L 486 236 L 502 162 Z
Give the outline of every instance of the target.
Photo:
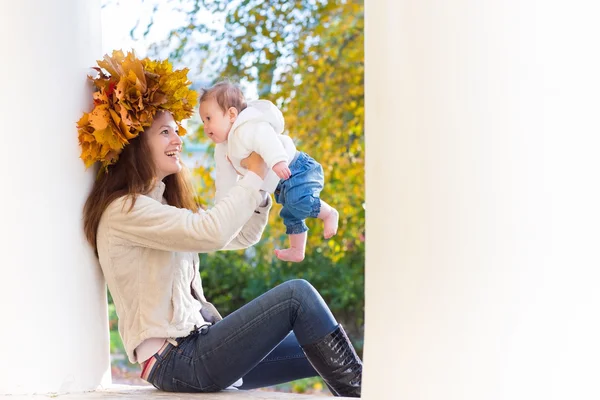
M 83 229 L 96 254 L 98 225 L 109 204 L 121 196 L 131 196 L 133 208 L 137 196 L 148 194 L 154 187 L 155 166 L 145 136 L 146 132 L 143 132 L 131 140 L 119 155 L 119 160 L 106 172 L 100 172 L 85 202 Z M 198 211 L 190 174 L 185 166 L 179 173 L 167 176 L 163 182 L 166 185 L 164 197 L 169 205 Z

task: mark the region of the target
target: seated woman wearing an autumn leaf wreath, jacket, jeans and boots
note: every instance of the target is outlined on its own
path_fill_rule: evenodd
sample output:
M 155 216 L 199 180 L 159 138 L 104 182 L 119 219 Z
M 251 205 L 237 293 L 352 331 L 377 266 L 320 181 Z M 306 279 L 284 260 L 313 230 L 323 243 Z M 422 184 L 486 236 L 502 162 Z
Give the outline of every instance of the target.
M 221 318 L 204 297 L 199 252 L 256 244 L 271 198 L 249 173 L 212 209 L 198 210 L 179 155 L 197 95 L 187 70 L 113 52 L 98 61 L 94 109 L 78 123 L 81 158 L 101 169 L 84 208 L 119 316 L 119 333 L 142 378 L 165 391 L 268 386 L 316 375 L 336 396 L 360 397 L 362 363 L 318 292 L 285 282 Z

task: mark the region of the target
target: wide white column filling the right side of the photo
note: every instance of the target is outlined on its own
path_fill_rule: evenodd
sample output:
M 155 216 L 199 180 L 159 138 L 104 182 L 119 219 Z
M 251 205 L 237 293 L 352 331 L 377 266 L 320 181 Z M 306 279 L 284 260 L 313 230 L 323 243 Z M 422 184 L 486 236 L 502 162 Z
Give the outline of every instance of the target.
M 595 4 L 366 2 L 364 398 L 600 398 Z

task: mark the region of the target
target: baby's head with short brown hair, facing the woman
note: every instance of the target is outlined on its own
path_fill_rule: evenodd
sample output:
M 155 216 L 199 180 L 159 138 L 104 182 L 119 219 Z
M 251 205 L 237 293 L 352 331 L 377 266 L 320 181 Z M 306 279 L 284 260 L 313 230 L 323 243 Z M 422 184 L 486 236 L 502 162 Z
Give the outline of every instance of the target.
M 246 106 L 242 90 L 234 83 L 219 82 L 201 89 L 200 118 L 206 136 L 215 143 L 226 141 L 231 126 Z

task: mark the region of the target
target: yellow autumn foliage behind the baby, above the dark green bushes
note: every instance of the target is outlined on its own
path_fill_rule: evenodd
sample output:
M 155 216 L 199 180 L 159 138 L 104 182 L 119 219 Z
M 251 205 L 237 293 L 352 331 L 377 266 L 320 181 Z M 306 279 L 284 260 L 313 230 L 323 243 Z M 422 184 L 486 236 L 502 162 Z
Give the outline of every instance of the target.
M 184 65 L 200 59 L 206 80 L 219 76 L 255 84 L 259 96 L 284 113 L 299 150 L 325 172 L 323 200 L 340 211 L 338 234 L 323 240 L 322 223 L 309 219 L 308 252 L 332 264 L 364 252 L 364 3 L 356 0 L 182 0 L 193 4 L 189 23 L 169 35 L 171 57 Z M 199 10 L 224 16 L 222 26 L 202 24 Z M 201 35 L 206 41 L 198 41 Z M 164 50 L 159 45 L 156 49 Z M 196 65 L 196 64 L 194 64 Z M 203 135 L 198 135 L 199 140 Z M 195 171 L 200 198 L 213 195 L 212 167 Z M 207 201 L 206 203 L 208 203 Z M 286 245 L 285 227 L 274 206 L 258 248 L 264 262 Z M 354 261 L 353 261 L 354 262 Z

